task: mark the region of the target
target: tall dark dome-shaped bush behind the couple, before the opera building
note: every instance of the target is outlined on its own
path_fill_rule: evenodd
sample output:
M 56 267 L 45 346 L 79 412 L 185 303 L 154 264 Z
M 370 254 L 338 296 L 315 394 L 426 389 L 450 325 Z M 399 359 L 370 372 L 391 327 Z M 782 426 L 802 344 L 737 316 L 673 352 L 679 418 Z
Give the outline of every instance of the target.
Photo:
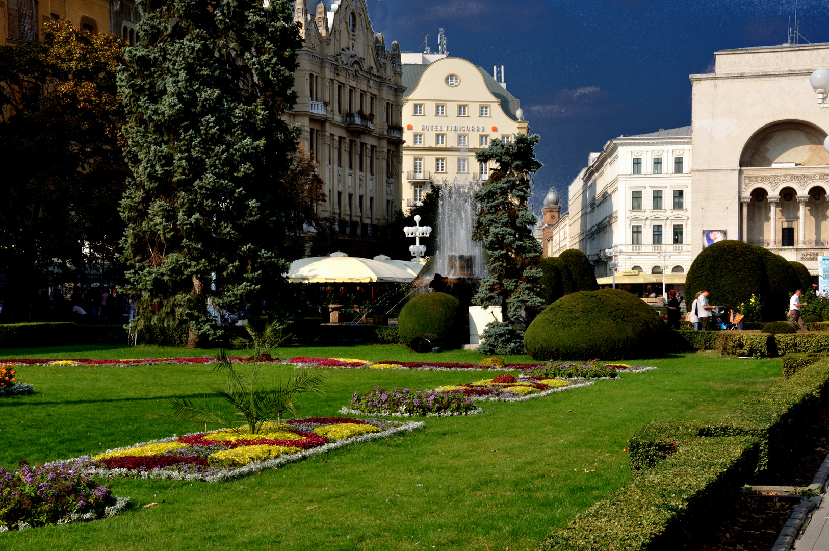
M 759 247 L 743 241 L 726 240 L 706 246 L 694 263 L 685 281 L 686 296 L 710 289 L 711 305 L 735 307 L 751 299 L 751 295 L 768 295 L 768 275 Z

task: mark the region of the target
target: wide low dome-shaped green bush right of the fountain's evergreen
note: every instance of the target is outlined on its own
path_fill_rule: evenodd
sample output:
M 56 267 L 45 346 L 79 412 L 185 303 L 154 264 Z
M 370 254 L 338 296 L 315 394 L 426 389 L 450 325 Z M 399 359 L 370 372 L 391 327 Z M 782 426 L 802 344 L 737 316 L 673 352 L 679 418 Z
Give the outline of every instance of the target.
M 533 359 L 652 358 L 665 352 L 667 327 L 636 295 L 579 291 L 548 306 L 526 329 Z

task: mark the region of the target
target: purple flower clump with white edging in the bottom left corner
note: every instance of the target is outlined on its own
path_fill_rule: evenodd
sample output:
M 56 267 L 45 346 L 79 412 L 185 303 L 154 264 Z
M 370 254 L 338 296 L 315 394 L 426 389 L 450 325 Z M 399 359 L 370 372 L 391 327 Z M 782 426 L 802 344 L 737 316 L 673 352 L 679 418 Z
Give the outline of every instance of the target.
M 112 516 L 129 498 L 116 498 L 109 488 L 90 477 L 85 461 L 0 468 L 0 532 Z

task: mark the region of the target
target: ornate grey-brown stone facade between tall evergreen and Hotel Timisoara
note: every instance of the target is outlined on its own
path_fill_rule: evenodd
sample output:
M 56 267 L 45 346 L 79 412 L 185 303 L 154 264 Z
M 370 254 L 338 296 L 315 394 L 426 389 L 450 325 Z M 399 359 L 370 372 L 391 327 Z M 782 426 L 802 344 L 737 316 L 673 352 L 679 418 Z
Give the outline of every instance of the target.
M 321 217 L 344 222 L 351 236 L 381 237 L 400 208 L 400 46 L 374 34 L 364 0 L 325 0 L 309 14 L 297 0 L 303 48 L 286 113 L 302 127 L 306 151 L 319 163 L 327 201 Z

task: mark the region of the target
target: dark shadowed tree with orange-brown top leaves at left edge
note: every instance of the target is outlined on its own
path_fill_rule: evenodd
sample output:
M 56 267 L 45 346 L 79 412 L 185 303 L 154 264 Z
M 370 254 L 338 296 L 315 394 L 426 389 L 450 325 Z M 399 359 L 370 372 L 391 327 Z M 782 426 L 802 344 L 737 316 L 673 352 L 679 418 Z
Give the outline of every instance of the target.
M 75 291 L 89 289 L 93 269 L 118 279 L 117 207 L 128 175 L 115 85 L 123 42 L 81 32 L 68 19 L 44 23 L 41 38 L 0 46 L 2 315 L 21 321 L 31 319 L 47 278 Z M 71 306 L 55 298 L 68 314 Z M 46 297 L 40 302 L 38 314 Z

